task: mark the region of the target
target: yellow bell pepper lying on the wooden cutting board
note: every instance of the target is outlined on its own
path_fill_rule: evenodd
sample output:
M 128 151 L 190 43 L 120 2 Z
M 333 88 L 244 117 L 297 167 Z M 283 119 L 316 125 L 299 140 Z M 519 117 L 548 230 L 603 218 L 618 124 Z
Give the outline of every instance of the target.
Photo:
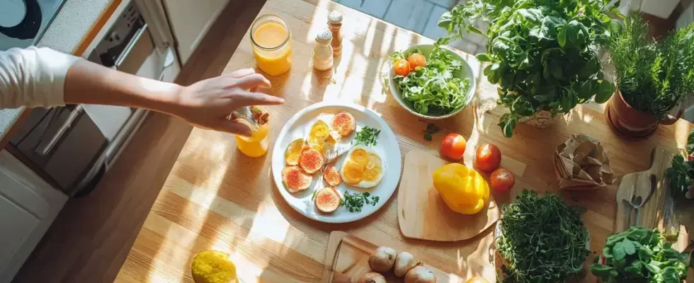
M 489 184 L 472 168 L 450 163 L 436 169 L 433 185 L 450 209 L 476 214 L 489 203 Z

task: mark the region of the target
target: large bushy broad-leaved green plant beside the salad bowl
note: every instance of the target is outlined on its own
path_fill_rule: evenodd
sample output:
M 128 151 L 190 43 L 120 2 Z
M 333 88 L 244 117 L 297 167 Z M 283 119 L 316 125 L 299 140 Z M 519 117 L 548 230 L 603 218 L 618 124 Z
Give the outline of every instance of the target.
M 438 25 L 451 40 L 479 33 L 476 21 L 488 21 L 484 75 L 499 84 L 499 104 L 510 112 L 499 126 L 511 137 L 522 117 L 540 110 L 568 113 L 595 97 L 604 103 L 614 85 L 604 79 L 594 48 L 606 45 L 622 25 L 610 0 L 470 0 L 443 13 Z

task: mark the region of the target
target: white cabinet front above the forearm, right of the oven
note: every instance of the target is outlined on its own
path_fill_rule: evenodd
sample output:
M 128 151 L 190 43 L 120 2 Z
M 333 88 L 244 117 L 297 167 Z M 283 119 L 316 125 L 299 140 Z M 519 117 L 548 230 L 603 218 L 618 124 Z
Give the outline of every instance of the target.
M 163 0 L 174 37 L 178 42 L 181 64 L 186 64 L 190 54 L 203 39 L 212 23 L 229 0 Z

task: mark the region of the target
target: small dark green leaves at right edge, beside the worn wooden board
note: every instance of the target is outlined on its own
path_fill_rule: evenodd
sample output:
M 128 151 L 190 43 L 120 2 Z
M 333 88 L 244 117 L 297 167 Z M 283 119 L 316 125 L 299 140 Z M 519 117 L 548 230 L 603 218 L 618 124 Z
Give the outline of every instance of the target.
M 685 197 L 691 185 L 694 185 L 694 129 L 687 138 L 686 154 L 672 158 L 672 166 L 665 169 L 670 191 L 675 197 Z M 694 198 L 694 195 L 690 195 Z

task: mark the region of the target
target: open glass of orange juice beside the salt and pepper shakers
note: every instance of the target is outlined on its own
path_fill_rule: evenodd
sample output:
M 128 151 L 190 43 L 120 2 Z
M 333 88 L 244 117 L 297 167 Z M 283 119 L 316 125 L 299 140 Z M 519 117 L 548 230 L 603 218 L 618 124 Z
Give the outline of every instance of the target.
M 292 32 L 280 16 L 256 18 L 251 25 L 251 45 L 258 67 L 271 76 L 284 74 L 292 66 Z

